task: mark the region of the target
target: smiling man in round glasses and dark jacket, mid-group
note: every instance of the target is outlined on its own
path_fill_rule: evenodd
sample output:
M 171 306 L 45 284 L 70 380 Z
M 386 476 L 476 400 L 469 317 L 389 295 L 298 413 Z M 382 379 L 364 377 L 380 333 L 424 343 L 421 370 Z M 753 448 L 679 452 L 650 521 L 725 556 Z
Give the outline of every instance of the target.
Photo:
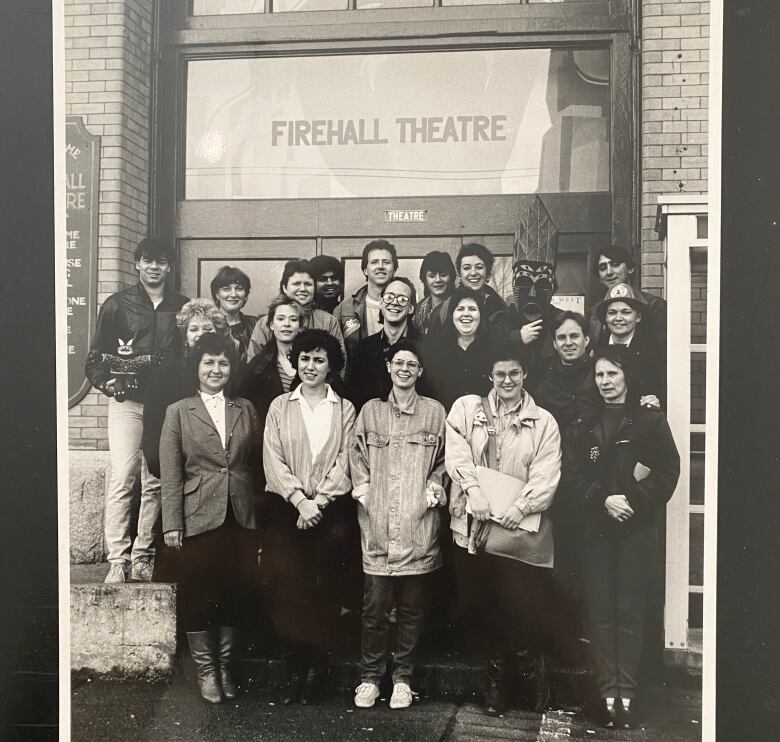
M 417 339 L 411 320 L 416 303 L 417 292 L 408 278 L 394 278 L 382 288 L 381 329 L 357 344 L 347 377 L 347 397 L 358 412 L 369 399 L 390 391 L 386 358 L 401 339 Z

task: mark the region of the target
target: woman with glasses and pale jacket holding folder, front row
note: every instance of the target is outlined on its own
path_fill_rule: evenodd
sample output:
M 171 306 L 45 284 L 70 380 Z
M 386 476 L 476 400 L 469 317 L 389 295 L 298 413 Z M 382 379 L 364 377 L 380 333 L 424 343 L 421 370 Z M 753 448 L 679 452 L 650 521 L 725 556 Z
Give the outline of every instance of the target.
M 545 511 L 561 447 L 555 419 L 523 388 L 523 346 L 498 346 L 488 362 L 490 390 L 460 397 L 447 416 L 445 467 L 463 637 L 485 668 L 485 713 L 497 716 L 517 685 L 513 676 L 531 681 L 535 711 L 549 701 L 557 611 Z

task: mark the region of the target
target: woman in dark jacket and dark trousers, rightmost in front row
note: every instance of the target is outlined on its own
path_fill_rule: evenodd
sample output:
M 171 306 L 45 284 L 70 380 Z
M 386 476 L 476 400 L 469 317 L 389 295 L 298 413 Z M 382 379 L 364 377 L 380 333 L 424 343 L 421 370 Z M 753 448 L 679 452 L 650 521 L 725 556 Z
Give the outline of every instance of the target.
M 587 529 L 591 647 L 605 726 L 631 728 L 644 604 L 656 559 L 658 511 L 674 493 L 680 457 L 663 412 L 641 405 L 633 357 L 619 345 L 595 356 L 604 407 L 567 431 L 563 480 Z

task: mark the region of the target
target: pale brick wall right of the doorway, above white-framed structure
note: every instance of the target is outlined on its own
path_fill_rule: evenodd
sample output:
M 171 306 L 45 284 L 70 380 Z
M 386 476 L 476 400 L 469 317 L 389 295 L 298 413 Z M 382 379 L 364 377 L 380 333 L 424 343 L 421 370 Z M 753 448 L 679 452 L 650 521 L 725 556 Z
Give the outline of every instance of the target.
M 642 287 L 663 293 L 659 193 L 706 193 L 709 2 L 642 3 Z

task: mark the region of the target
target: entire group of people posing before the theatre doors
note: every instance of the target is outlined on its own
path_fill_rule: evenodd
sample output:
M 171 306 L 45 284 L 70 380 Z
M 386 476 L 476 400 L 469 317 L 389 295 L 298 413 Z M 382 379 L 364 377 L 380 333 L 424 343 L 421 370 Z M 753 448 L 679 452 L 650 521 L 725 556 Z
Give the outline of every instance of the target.
M 355 705 L 380 695 L 392 621 L 390 706 L 409 706 L 444 572 L 487 713 L 506 709 L 518 664 L 542 710 L 549 659 L 579 639 L 603 723 L 635 723 L 679 457 L 662 412 L 665 304 L 631 286 L 627 251 L 599 253 L 606 295 L 588 318 L 553 307 L 553 269 L 521 259 L 507 304 L 477 243 L 454 263 L 426 255 L 419 300 L 386 240 L 365 246 L 366 283 L 344 298 L 340 261 L 290 261 L 259 318 L 242 312 L 237 268 L 188 300 L 165 285 L 170 245 L 147 238 L 135 259 L 139 282 L 103 304 L 86 367 L 111 397 L 106 582 L 152 579 L 161 521 L 206 701 L 238 694 L 230 663 L 259 583 L 290 662 L 285 702 L 316 696 L 338 616 L 354 610 Z

